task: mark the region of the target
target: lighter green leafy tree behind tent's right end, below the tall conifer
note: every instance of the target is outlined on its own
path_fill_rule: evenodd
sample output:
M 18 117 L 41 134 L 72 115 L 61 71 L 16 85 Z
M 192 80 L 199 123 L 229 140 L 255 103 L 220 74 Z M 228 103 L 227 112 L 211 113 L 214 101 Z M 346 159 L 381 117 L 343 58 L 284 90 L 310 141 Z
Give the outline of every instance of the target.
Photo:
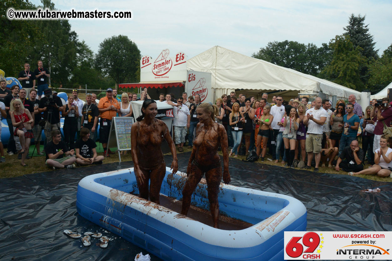
M 360 68 L 366 63 L 361 47 L 354 47 L 347 35 L 337 35 L 329 47 L 333 50 L 332 61 L 321 72 L 321 77 L 348 88 L 361 91 Z

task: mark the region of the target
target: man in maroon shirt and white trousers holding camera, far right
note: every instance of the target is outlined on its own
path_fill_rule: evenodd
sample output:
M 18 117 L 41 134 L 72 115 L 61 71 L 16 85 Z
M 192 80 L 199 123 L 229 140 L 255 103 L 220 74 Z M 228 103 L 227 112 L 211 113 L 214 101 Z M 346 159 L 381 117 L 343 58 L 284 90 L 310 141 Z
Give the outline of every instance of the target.
M 377 110 L 377 112 L 375 112 Z M 392 120 L 392 108 L 389 105 L 389 99 L 387 97 L 382 100 L 376 100 L 374 107 L 370 112 L 370 115 L 375 115 L 374 125 L 374 141 L 373 141 L 373 152 L 375 152 L 380 147 L 380 138 L 383 135 L 384 122 L 387 127 L 390 127 L 390 122 Z

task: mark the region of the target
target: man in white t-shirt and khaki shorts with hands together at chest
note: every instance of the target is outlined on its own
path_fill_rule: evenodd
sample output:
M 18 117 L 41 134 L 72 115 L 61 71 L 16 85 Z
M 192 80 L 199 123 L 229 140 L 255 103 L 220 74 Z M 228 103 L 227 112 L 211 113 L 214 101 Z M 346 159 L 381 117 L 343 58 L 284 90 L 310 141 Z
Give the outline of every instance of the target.
M 306 152 L 308 152 L 308 165 L 305 169 L 310 169 L 312 164 L 313 154 L 315 154 L 316 167 L 314 172 L 318 172 L 318 165 L 320 163 L 321 141 L 323 140 L 323 125 L 327 120 L 327 111 L 321 108 L 323 100 L 317 97 L 314 100 L 314 107 L 306 111 L 303 123 L 308 125 L 308 132 L 306 133 Z

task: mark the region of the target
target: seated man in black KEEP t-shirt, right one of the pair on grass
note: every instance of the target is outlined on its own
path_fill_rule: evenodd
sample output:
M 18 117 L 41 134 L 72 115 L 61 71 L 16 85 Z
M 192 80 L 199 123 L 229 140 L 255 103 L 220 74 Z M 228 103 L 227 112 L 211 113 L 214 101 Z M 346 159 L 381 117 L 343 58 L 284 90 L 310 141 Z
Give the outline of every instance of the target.
M 82 128 L 80 138 L 75 143 L 76 163 L 79 165 L 102 164 L 104 156 L 97 156 L 95 141 L 90 139 L 90 130 Z

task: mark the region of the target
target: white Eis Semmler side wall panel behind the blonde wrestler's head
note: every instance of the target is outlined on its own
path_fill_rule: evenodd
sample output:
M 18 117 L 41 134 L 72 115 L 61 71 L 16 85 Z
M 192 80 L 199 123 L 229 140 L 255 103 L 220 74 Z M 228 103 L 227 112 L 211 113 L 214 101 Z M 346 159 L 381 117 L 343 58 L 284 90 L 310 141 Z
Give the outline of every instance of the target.
M 188 96 L 200 95 L 200 102 L 212 102 L 211 73 L 188 71 L 185 91 Z

